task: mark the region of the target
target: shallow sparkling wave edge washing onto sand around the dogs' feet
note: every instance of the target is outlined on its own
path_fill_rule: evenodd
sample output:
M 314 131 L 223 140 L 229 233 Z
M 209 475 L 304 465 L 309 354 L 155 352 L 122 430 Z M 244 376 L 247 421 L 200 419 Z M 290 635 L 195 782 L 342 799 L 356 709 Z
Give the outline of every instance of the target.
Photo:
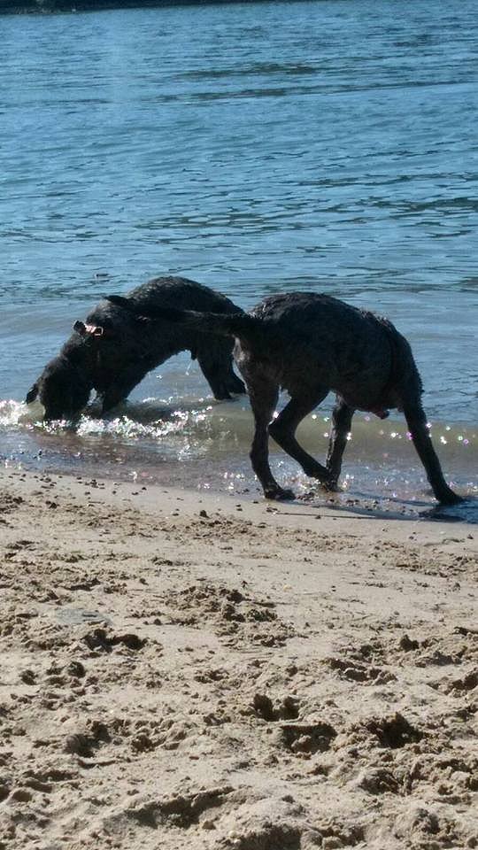
M 447 508 L 433 496 L 403 418 L 392 413 L 384 422 L 368 414 L 356 419 L 343 460 L 341 491 L 334 494 L 324 491 L 270 441 L 274 475 L 291 487 L 297 502 L 371 517 L 442 517 L 470 525 L 477 521 L 478 446 L 473 426 L 447 421 L 430 425 L 443 474 L 466 499 Z M 0 426 L 4 435 L 0 462 L 7 468 L 83 479 L 96 475 L 99 468 L 110 482 L 179 487 L 222 498 L 262 498 L 249 460 L 252 415 L 237 401 L 214 405 L 201 399 L 196 406 L 188 401 L 175 407 L 134 400 L 110 418 L 96 418 L 94 409 L 87 410 L 75 428 L 64 428 L 42 427 L 35 411 L 11 400 L 0 402 Z M 327 409 L 301 423 L 298 436 L 305 450 L 325 457 L 329 427 Z

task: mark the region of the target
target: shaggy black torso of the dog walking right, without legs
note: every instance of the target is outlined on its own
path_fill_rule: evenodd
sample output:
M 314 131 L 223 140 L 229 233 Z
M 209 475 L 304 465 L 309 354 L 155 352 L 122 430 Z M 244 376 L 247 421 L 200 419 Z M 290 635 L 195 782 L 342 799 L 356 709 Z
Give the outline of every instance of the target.
M 291 394 L 320 384 L 370 410 L 400 406 L 407 383 L 421 390 L 410 345 L 374 313 L 328 295 L 293 292 L 265 298 L 251 315 L 263 323 L 262 333 L 251 343 L 241 337 L 239 359 L 252 358 L 252 368 L 267 363 Z

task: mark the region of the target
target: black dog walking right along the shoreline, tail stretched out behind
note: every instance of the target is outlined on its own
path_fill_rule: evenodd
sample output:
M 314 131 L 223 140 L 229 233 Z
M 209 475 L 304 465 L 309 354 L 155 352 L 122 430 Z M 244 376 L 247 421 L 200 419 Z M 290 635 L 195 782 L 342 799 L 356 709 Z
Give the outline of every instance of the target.
M 109 297 L 114 304 L 121 298 Z M 136 309 L 133 302 L 125 305 Z M 293 498 L 274 480 L 268 462 L 268 434 L 298 461 L 306 475 L 335 489 L 343 450 L 356 410 L 382 419 L 390 407 L 405 413 L 413 444 L 438 501 L 461 501 L 443 478 L 421 406 L 420 375 L 404 336 L 386 319 L 327 295 L 295 292 L 273 295 L 251 314 L 218 316 L 151 307 L 150 319 L 180 321 L 184 327 L 235 336 L 235 360 L 241 370 L 255 418 L 251 462 L 266 498 Z M 272 421 L 279 390 L 290 401 Z M 297 443 L 296 429 L 307 413 L 336 394 L 326 466 Z

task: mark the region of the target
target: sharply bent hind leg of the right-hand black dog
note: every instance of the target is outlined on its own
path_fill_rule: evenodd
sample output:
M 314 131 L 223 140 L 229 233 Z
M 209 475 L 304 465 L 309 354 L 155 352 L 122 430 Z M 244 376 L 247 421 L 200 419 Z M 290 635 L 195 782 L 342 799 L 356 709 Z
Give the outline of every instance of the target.
M 318 478 L 322 483 L 328 483 L 330 473 L 328 468 L 323 467 L 318 460 L 312 458 L 311 454 L 305 452 L 305 449 L 297 443 L 296 430 L 297 426 L 304 419 L 307 413 L 311 413 L 314 407 L 320 405 L 320 402 L 327 396 L 328 390 L 320 387 L 312 395 L 294 396 L 290 399 L 289 404 L 279 413 L 269 425 L 269 434 L 274 437 L 284 452 L 287 452 L 291 458 L 297 460 L 304 469 L 305 475 L 310 475 L 311 478 Z

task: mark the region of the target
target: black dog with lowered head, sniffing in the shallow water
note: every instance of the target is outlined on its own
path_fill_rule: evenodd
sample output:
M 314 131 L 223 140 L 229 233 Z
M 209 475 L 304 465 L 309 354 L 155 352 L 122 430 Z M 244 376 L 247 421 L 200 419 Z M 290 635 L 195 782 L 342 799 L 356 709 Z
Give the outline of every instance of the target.
M 232 301 L 200 283 L 181 277 L 158 277 L 127 294 L 124 302 L 143 312 L 165 305 L 214 313 L 240 313 Z M 134 312 L 101 301 L 86 322 L 76 321 L 58 357 L 28 390 L 27 404 L 39 396 L 46 421 L 73 419 L 88 404 L 91 390 L 106 413 L 127 398 L 150 369 L 173 354 L 190 351 L 197 358 L 215 398 L 244 392 L 232 368 L 233 342 L 199 328 L 169 321 L 141 321 Z

